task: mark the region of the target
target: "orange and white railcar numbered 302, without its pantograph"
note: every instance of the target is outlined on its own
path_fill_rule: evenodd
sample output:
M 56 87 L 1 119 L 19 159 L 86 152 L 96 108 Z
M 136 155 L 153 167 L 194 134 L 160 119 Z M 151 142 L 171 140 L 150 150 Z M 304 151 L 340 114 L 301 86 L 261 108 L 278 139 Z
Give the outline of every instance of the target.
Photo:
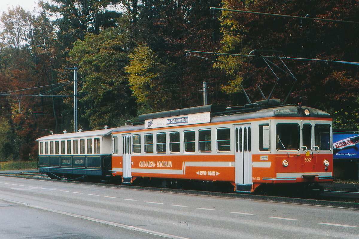
M 112 132 L 112 175 L 224 181 L 235 191 L 261 184 L 333 180 L 332 119 L 278 100 L 139 116 Z

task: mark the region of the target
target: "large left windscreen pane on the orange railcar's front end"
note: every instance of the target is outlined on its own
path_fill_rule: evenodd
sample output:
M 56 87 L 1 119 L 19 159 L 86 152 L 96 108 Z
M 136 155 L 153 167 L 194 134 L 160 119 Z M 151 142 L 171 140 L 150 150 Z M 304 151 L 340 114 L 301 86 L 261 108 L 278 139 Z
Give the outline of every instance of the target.
M 278 150 L 299 150 L 298 124 L 277 124 L 276 133 Z

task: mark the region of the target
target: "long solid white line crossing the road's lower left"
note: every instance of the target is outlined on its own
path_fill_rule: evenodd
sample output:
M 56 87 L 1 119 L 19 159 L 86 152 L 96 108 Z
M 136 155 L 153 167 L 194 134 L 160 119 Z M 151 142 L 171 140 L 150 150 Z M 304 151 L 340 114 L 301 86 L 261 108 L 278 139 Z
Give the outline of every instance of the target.
M 35 205 L 31 205 L 31 204 L 26 204 L 26 203 L 23 203 L 23 202 L 17 202 L 17 201 L 12 201 L 12 200 L 7 200 L 7 199 L 1 199 L 1 200 L 11 202 L 11 203 L 14 203 L 14 204 L 24 205 L 24 206 L 27 206 L 27 207 L 41 209 L 41 210 L 44 210 L 44 211 L 55 212 L 55 213 L 58 213 L 58 214 L 71 216 L 71 217 L 74 217 L 74 218 L 81 218 L 81 219 L 93 221 L 93 222 L 96 222 L 96 223 L 102 223 L 102 224 L 106 224 L 106 225 L 110 225 L 110 226 L 116 226 L 118 228 L 123 228 L 123 229 L 131 230 L 131 231 L 138 231 L 138 232 L 147 233 L 147 234 L 150 234 L 150 235 L 162 236 L 164 238 L 190 239 L 190 238 L 186 238 L 186 237 L 182 237 L 182 236 L 176 236 L 176 235 L 171 235 L 171 234 L 167 234 L 167 233 L 161 233 L 159 231 L 146 230 L 146 229 L 142 229 L 142 228 L 139 228 L 139 227 L 136 227 L 136 226 L 129 226 L 129 225 L 125 225 L 125 224 L 114 223 L 112 221 L 105 221 L 105 220 L 101 220 L 101 219 L 90 218 L 88 216 L 82 216 L 82 215 L 78 215 L 78 214 L 73 214 L 73 213 L 70 213 L 70 212 L 64 212 L 64 211 L 49 209 L 49 208 L 46 208 L 46 207 L 35 206 Z

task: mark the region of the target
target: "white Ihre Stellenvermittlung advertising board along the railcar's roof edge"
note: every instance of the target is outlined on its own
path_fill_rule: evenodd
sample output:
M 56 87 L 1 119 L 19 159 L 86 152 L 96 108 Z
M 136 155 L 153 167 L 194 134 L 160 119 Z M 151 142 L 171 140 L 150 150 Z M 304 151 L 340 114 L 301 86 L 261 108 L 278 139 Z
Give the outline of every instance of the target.
M 210 121 L 211 121 L 210 112 L 172 116 L 167 118 L 145 120 L 145 129 L 178 126 L 178 125 L 189 125 L 189 124 L 202 124 L 202 123 L 209 123 Z

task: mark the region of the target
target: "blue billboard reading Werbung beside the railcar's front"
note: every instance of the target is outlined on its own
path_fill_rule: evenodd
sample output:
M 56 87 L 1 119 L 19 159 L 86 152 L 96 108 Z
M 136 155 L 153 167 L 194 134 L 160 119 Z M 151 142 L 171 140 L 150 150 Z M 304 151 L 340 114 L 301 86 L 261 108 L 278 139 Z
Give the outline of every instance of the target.
M 359 158 L 359 133 L 333 133 L 333 158 Z

